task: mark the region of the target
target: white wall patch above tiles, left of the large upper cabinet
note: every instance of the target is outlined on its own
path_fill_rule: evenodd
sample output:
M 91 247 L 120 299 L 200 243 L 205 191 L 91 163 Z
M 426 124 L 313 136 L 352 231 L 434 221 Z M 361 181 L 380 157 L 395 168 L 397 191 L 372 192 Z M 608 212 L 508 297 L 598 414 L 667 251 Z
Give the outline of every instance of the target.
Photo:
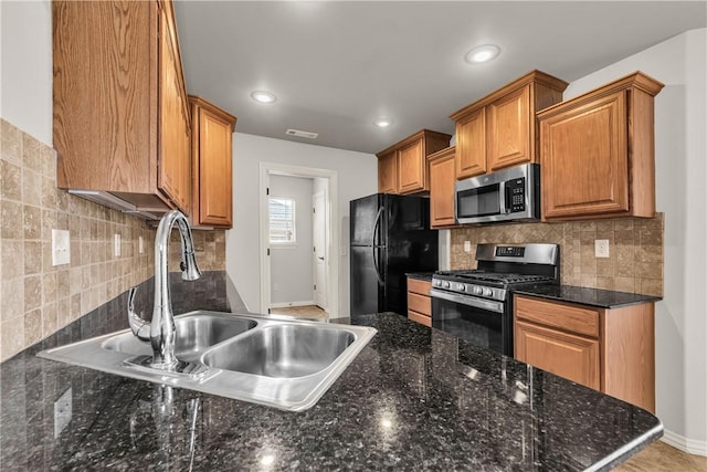
M 52 6 L 0 1 L 0 116 L 52 145 Z

